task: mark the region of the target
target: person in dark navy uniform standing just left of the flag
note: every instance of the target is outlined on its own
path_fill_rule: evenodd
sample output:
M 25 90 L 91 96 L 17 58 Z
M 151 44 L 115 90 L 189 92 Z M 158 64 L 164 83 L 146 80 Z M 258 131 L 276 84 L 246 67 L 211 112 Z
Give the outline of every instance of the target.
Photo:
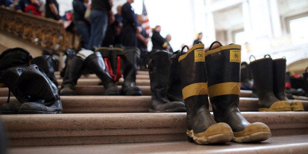
M 122 6 L 123 29 L 121 33 L 121 42 L 125 47 L 137 47 L 136 32 L 139 32 L 139 24 L 136 14 L 130 5 L 133 2 L 134 0 L 127 0 Z

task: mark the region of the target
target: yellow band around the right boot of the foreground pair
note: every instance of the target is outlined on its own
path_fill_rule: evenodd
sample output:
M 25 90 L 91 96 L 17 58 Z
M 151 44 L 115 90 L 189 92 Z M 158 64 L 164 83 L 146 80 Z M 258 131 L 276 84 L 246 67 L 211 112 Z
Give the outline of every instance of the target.
M 208 87 L 209 98 L 221 95 L 239 95 L 241 83 L 239 82 L 225 82 L 218 83 Z

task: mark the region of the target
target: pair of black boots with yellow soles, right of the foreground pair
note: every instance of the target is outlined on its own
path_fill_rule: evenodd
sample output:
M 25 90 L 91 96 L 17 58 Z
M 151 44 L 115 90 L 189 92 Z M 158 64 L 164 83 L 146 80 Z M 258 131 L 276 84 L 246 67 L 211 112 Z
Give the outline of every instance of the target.
M 259 111 L 304 111 L 301 102 L 289 101 L 286 97 L 285 58 L 272 59 L 267 54 L 264 58 L 251 61 L 249 68 L 259 99 Z

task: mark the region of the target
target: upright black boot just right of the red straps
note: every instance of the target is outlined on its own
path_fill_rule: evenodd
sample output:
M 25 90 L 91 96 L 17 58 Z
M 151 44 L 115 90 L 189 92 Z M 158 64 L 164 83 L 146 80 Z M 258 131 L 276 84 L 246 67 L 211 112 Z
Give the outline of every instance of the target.
M 123 49 L 122 71 L 124 82 L 122 83 L 122 95 L 141 96 L 142 91 L 136 86 L 136 74 L 139 64 L 140 50 L 136 47 Z

